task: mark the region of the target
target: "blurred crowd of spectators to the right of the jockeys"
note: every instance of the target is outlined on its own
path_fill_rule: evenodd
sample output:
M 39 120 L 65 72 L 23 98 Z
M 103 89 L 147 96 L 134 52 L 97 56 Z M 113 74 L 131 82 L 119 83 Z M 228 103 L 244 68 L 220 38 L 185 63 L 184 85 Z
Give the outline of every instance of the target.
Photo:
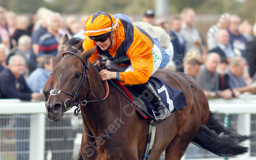
M 239 16 L 223 13 L 212 22 L 211 27 L 216 28 L 214 36 L 204 39 L 194 25 L 196 14 L 192 8 L 184 8 L 169 23 L 162 18 L 152 23 L 154 12 L 147 13 L 144 16 L 149 17 L 151 24 L 164 28 L 173 45 L 176 68 L 165 68 L 195 78 L 208 98 L 229 99 L 244 92 L 256 93 L 256 23 L 251 25 L 247 19 L 241 22 Z M 147 18 L 142 20 L 149 22 Z M 197 49 L 193 49 L 193 56 L 187 56 L 192 47 Z M 175 61 L 182 61 L 182 65 Z

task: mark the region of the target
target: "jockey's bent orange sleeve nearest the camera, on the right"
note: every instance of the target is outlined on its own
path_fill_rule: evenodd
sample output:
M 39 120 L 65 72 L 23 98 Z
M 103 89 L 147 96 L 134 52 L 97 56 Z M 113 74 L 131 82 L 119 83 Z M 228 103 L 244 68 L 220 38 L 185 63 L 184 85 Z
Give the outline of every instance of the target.
M 144 36 L 139 35 L 133 39 L 133 43 L 128 49 L 126 55 L 130 58 L 134 72 L 120 72 L 124 82 L 122 85 L 137 85 L 148 82 L 153 69 L 152 44 L 149 44 Z

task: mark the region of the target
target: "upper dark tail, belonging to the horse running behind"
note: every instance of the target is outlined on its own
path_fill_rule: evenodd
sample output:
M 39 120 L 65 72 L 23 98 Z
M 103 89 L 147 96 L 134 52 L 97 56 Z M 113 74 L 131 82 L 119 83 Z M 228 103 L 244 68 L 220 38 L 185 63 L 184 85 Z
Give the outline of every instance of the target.
M 225 135 L 229 135 L 229 137 L 236 138 L 238 140 L 238 142 L 243 142 L 243 141 L 251 138 L 250 136 L 238 134 L 232 128 L 224 127 L 224 125 L 222 125 L 224 122 L 221 120 L 217 120 L 215 118 L 216 114 L 218 114 L 218 113 L 213 113 L 210 111 L 210 117 L 206 124 L 206 126 L 210 130 L 214 131 L 216 134 L 224 133 Z

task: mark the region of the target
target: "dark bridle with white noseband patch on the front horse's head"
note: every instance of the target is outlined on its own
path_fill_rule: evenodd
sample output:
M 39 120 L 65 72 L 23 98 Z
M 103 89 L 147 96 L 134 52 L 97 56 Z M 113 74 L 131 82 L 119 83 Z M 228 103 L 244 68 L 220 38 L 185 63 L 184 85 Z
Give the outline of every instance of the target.
M 91 93 L 92 93 L 92 95 L 93 95 L 95 98 L 97 98 L 97 97 L 93 94 L 93 92 L 92 92 L 93 89 L 91 89 L 90 79 L 89 79 L 89 76 L 87 75 L 87 72 L 88 72 L 88 70 L 89 70 L 89 67 L 88 67 L 87 64 L 89 63 L 89 60 L 87 59 L 87 63 L 86 63 L 86 62 L 84 61 L 84 59 L 83 59 L 80 55 L 78 55 L 78 54 L 76 54 L 76 53 L 74 53 L 74 52 L 66 51 L 66 52 L 63 53 L 63 55 L 64 55 L 65 53 L 70 53 L 70 54 L 76 55 L 78 58 L 80 58 L 81 61 L 82 61 L 83 64 L 84 64 L 84 70 L 83 70 L 82 79 L 81 79 L 81 81 L 80 81 L 80 84 L 79 84 L 79 86 L 77 87 L 76 91 L 73 92 L 73 94 L 71 94 L 70 92 L 64 91 L 64 90 L 62 90 L 62 89 L 57 89 L 57 88 L 52 89 L 52 90 L 50 91 L 50 95 L 57 95 L 57 96 L 60 98 L 61 103 L 62 103 L 62 108 L 64 108 L 65 110 L 69 110 L 69 109 L 71 109 L 73 106 L 78 107 L 78 105 L 79 105 L 80 103 L 81 103 L 81 105 L 86 105 L 87 102 L 97 102 L 97 101 L 102 101 L 102 100 L 104 100 L 105 98 L 107 98 L 107 97 L 108 97 L 108 93 L 109 93 L 109 89 L 108 89 L 108 83 L 107 83 L 107 81 L 105 81 L 105 83 L 106 83 L 106 95 L 105 95 L 105 97 L 102 98 L 102 99 L 99 99 L 99 100 L 87 101 L 88 98 L 90 98 Z M 63 55 L 62 55 L 62 56 L 63 56 Z M 87 79 L 89 88 L 86 88 L 86 87 L 84 86 L 85 79 Z M 77 96 L 78 96 L 78 94 L 79 94 L 79 92 L 80 92 L 80 90 L 81 90 L 82 87 L 85 88 L 85 89 L 87 89 L 87 90 L 89 90 L 89 91 L 91 91 L 91 92 L 90 92 L 90 95 L 88 96 L 88 98 L 87 98 L 86 100 L 83 100 L 83 101 L 80 101 L 80 100 L 79 100 L 79 102 L 73 103 L 73 101 L 77 98 Z M 71 98 L 71 99 L 66 99 L 65 102 L 63 102 L 61 96 L 59 95 L 60 92 L 64 92 L 64 93 L 70 95 L 72 98 Z M 69 100 L 69 102 L 70 102 L 69 108 L 67 108 L 67 106 L 66 106 L 66 101 L 68 101 L 68 100 Z M 85 103 L 85 104 L 82 104 L 82 103 Z

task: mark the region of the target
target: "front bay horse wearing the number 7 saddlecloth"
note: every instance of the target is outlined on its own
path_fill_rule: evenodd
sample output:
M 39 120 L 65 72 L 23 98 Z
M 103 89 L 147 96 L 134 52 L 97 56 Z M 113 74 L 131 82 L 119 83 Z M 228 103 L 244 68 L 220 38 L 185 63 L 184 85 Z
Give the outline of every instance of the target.
M 87 61 L 95 49 L 96 48 L 77 54 L 80 55 L 84 61 Z M 69 52 L 70 50 L 71 44 L 68 43 L 64 47 L 64 52 Z M 88 68 L 86 68 L 87 76 L 91 79 L 88 79 L 84 88 L 90 88 L 89 90 L 82 88 L 75 101 L 78 99 L 83 100 L 85 98 L 88 98 L 88 101 L 96 101 L 88 103 L 86 106 L 81 106 L 81 111 L 84 121 L 84 131 L 93 136 L 100 136 L 106 131 L 105 128 L 108 128 L 111 125 L 111 122 L 116 122 L 117 117 L 121 116 L 124 105 L 127 105 L 127 103 L 129 104 L 129 101 L 124 96 L 120 95 L 120 93 L 115 92 L 115 88 L 110 85 L 110 94 L 108 97 L 102 102 L 98 102 L 98 98 L 103 98 L 105 96 L 106 88 L 105 84 L 101 82 L 101 79 L 99 78 L 97 69 L 89 61 L 87 61 L 87 63 L 84 62 L 83 64 L 82 59 L 79 59 L 73 54 L 69 55 L 69 53 L 66 52 L 64 54 L 64 58 L 62 58 L 53 70 L 53 77 L 55 79 L 54 88 L 61 88 L 61 90 L 55 89 L 54 93 L 58 94 L 59 91 L 63 92 L 59 93 L 58 97 L 54 94 L 49 97 L 46 102 L 47 116 L 50 120 L 55 121 L 58 121 L 62 117 L 62 114 L 66 111 L 66 109 L 63 108 L 63 100 L 66 102 L 66 100 L 70 98 L 70 95 L 66 93 L 72 93 L 76 90 L 79 80 L 81 79 L 81 73 L 85 68 L 84 66 L 88 66 Z M 66 66 L 69 67 L 67 68 Z M 64 69 L 66 69 L 65 72 Z M 157 76 L 161 71 L 161 69 L 158 70 L 155 75 Z M 223 140 L 225 141 L 226 136 L 221 137 L 220 135 L 211 132 L 207 127 L 200 126 L 201 109 L 190 85 L 179 74 L 172 72 L 171 76 L 171 71 L 166 70 L 165 72 L 169 72 L 167 83 L 175 89 L 182 89 L 185 93 L 187 106 L 176 112 L 172 112 L 172 115 L 158 125 L 155 143 L 149 159 L 157 159 L 164 150 L 166 152 L 166 160 L 180 159 L 185 152 L 187 145 L 193 138 L 195 143 L 217 155 L 233 156 L 247 152 L 247 148 L 240 146 L 236 139 L 226 139 L 228 141 L 223 144 Z M 91 82 L 91 86 L 88 82 Z M 98 98 L 89 96 L 91 89 L 93 89 L 95 97 Z M 120 106 L 118 105 L 119 99 L 117 97 L 120 99 Z M 121 107 L 121 113 L 119 107 Z M 127 108 L 127 112 L 131 113 L 132 111 L 133 108 Z M 96 141 L 96 148 L 94 148 L 94 150 L 98 151 L 93 154 L 93 157 L 87 157 L 89 155 L 87 154 L 87 151 L 89 150 L 85 151 L 83 146 L 88 146 L 87 140 L 90 141 L 90 138 L 87 138 L 86 140 L 83 135 L 81 150 L 83 151 L 82 155 L 84 159 L 141 159 L 143 157 L 147 141 L 146 137 L 148 134 L 148 120 L 139 118 L 137 114 L 123 116 L 123 119 L 121 118 L 122 117 L 119 118 L 120 123 L 114 134 L 108 137 L 103 137 L 104 139 L 91 138 L 94 141 L 91 141 L 90 144 L 95 144 Z M 122 124 L 127 125 L 120 126 Z M 122 128 L 122 130 L 119 128 Z M 198 129 L 199 133 L 197 133 Z M 207 136 L 203 134 L 208 135 L 208 139 L 205 139 Z M 202 135 L 204 137 L 203 140 L 201 140 L 201 138 L 203 138 Z M 162 136 L 165 138 L 162 138 Z M 212 143 L 212 145 L 217 144 L 221 147 L 211 149 L 212 146 L 207 147 L 208 143 Z

